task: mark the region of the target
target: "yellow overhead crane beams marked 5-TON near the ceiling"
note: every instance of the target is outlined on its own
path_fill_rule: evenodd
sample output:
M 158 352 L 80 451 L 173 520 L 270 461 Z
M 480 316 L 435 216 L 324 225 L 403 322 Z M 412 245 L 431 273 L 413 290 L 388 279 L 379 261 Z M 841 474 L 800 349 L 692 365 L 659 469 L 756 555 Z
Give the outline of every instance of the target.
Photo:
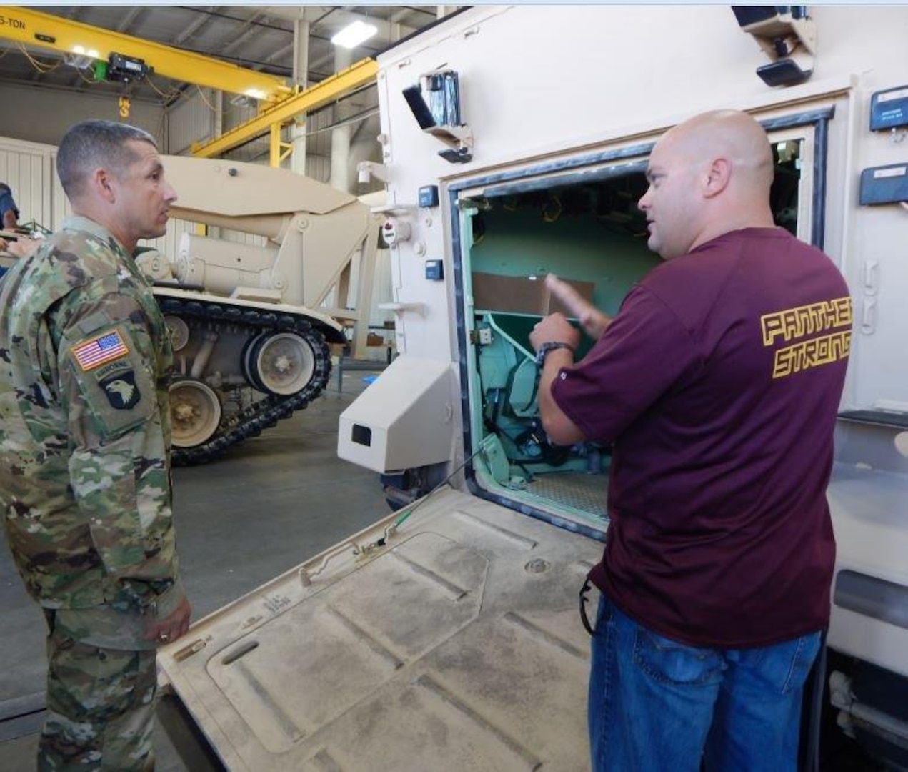
M 211 142 L 193 147 L 192 154 L 211 158 L 270 131 L 272 166 L 281 161 L 281 124 L 294 115 L 328 104 L 341 94 L 374 81 L 378 72 L 375 62 L 363 59 L 319 84 L 300 90 L 288 86 L 277 75 L 15 6 L 0 7 L 0 37 L 99 60 L 107 60 L 111 54 L 122 54 L 142 59 L 162 77 L 261 100 L 263 106 L 259 115 Z

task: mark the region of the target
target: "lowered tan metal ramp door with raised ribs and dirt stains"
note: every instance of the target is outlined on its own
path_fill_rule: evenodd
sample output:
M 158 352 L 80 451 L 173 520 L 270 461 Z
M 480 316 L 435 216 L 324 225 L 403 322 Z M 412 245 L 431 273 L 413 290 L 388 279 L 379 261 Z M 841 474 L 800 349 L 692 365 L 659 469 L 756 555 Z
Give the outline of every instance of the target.
M 222 761 L 587 769 L 589 638 L 577 589 L 601 545 L 454 490 L 391 534 L 395 519 L 160 652 Z

